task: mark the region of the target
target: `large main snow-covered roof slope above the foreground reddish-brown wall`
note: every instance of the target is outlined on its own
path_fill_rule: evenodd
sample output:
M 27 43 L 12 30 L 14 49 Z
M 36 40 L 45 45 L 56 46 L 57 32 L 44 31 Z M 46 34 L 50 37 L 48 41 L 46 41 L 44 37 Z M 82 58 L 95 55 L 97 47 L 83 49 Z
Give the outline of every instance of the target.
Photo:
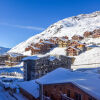
M 100 100 L 100 75 L 94 73 L 72 72 L 65 68 L 58 68 L 37 79 L 41 84 L 57 84 L 71 82 L 86 93 Z

